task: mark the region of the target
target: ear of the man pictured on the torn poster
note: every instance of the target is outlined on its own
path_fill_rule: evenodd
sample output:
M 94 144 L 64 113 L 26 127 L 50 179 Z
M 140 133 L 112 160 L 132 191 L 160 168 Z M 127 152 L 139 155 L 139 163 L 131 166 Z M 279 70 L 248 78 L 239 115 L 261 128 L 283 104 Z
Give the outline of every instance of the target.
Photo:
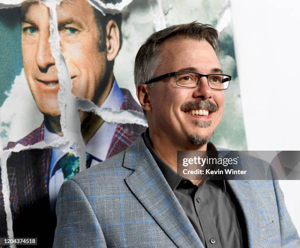
M 113 61 L 120 50 L 120 30 L 114 20 L 110 20 L 106 25 L 106 58 Z

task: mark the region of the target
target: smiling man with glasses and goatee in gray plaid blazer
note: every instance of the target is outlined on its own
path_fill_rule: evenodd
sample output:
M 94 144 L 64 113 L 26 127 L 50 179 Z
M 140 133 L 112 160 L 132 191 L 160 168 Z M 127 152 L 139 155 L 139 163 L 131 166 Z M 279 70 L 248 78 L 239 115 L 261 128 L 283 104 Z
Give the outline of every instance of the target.
M 218 51 L 216 29 L 200 23 L 170 26 L 141 46 L 134 75 L 149 129 L 62 185 L 54 247 L 300 247 L 278 181 L 177 174 L 176 151 L 216 151 L 231 79 Z

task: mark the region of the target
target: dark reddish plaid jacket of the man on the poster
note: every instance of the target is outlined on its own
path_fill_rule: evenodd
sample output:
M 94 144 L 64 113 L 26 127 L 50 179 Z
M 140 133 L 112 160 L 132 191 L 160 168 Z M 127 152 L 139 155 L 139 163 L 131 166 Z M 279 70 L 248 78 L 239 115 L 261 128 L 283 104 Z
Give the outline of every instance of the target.
M 126 89 L 121 90 L 125 93 L 121 110 L 141 111 L 130 92 Z M 117 124 L 111 142 L 108 144 L 106 157 L 102 159 L 105 160 L 124 151 L 143 131 L 144 127 L 137 124 Z M 8 145 L 14 146 L 20 143 L 29 146 L 43 140 L 44 123 L 20 141 Z M 7 160 L 14 235 L 15 237 L 38 237 L 40 244 L 47 245 L 52 242 L 56 225 L 49 199 L 52 154 L 51 148 L 31 149 L 13 152 Z M 5 237 L 7 225 L 2 191 L 0 191 L 0 212 L 0 234 Z M 45 231 L 45 228 L 48 231 Z

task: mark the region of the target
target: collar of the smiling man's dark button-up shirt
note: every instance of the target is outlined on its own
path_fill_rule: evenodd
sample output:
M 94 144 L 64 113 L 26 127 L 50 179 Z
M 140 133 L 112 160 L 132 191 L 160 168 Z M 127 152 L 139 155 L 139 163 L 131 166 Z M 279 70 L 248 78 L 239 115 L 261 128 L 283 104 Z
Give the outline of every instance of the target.
M 153 156 L 155 162 L 157 163 L 159 169 L 161 170 L 162 174 L 164 175 L 165 179 L 167 180 L 168 184 L 170 185 L 171 189 L 174 191 L 181 180 L 187 180 L 183 177 L 181 177 L 179 174 L 177 174 L 169 165 L 167 165 L 159 156 L 155 153 L 155 151 L 152 148 L 151 141 L 150 141 L 150 135 L 149 135 L 149 128 L 146 129 L 146 132 L 142 134 L 142 137 L 144 139 L 145 145 L 150 151 L 151 155 Z M 217 151 L 217 148 L 214 146 L 213 143 L 207 144 L 207 150 L 208 151 Z M 209 180 L 212 180 L 217 186 L 223 189 L 223 191 L 226 190 L 226 184 L 225 179 L 222 176 L 222 179 L 220 180 L 219 175 L 214 175 L 209 178 Z M 204 181 L 205 183 L 205 181 Z

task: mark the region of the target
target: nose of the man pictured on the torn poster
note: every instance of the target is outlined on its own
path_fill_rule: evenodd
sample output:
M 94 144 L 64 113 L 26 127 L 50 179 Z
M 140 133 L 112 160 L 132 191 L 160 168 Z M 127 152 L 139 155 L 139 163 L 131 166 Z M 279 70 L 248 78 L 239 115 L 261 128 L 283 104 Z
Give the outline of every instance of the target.
M 36 63 L 43 73 L 46 73 L 51 66 L 55 65 L 54 58 L 51 54 L 49 36 L 49 33 L 40 35 L 36 51 Z

